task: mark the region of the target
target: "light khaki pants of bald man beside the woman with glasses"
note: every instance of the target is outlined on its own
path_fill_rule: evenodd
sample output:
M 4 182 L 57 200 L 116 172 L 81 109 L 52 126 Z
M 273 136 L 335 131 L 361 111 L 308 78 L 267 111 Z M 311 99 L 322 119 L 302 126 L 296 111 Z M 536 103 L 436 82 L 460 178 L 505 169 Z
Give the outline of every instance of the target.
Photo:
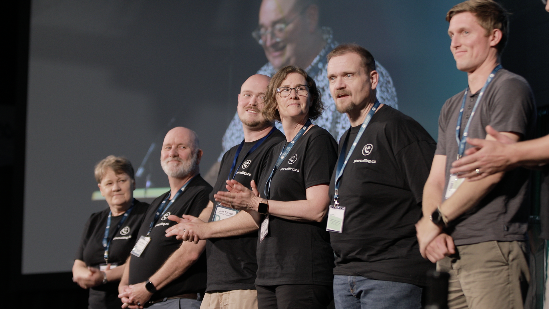
M 206 292 L 200 309 L 257 309 L 257 291 Z

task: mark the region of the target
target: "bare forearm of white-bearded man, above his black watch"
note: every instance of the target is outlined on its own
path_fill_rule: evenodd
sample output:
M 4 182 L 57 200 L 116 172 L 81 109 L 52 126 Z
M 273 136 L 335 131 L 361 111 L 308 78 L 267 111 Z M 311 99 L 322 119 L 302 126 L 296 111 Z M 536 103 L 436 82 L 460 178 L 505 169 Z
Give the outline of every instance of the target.
M 149 278 L 150 282 L 157 290 L 164 288 L 186 272 L 198 260 L 205 247 L 205 240 L 199 241 L 196 245 L 192 242 L 182 242 L 179 249 L 173 252 L 160 269 Z

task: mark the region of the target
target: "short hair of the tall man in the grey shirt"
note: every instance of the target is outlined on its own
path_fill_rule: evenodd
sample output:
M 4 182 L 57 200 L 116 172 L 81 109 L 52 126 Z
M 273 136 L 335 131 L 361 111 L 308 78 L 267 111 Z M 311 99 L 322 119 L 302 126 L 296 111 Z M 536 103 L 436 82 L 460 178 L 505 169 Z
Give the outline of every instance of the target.
M 477 17 L 479 24 L 486 30 L 486 35 L 490 35 L 492 30 L 501 30 L 501 40 L 497 43 L 497 52 L 501 54 L 509 32 L 509 13 L 501 4 L 492 0 L 467 0 L 458 3 L 446 13 L 446 21 L 450 22 L 456 14 L 469 12 Z

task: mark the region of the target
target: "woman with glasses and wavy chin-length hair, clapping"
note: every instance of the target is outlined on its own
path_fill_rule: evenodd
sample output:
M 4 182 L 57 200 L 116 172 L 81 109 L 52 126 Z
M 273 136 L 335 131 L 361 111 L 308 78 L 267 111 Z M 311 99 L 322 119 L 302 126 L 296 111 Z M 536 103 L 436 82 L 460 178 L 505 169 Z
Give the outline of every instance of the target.
M 326 308 L 332 301 L 334 257 L 326 231 L 328 184 L 337 144 L 311 124 L 323 111 L 321 93 L 307 73 L 280 69 L 267 86 L 263 113 L 282 123 L 286 140 L 250 191 L 227 181 L 216 201 L 257 218 L 258 308 Z M 259 191 L 259 195 L 257 195 Z

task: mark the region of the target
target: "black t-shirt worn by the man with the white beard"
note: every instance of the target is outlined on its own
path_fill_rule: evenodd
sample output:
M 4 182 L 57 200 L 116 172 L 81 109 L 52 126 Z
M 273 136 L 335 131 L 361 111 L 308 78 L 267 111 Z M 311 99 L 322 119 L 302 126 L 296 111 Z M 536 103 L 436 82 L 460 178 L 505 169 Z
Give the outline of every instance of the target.
M 150 276 L 158 271 L 170 255 L 181 246 L 182 241 L 177 240 L 175 236 L 166 237 L 166 229 L 176 224 L 176 222 L 168 220 L 167 217 L 170 214 L 177 217 L 181 217 L 183 214 L 190 214 L 191 216 L 198 217 L 206 205 L 208 205 L 208 195 L 211 190 L 212 187 L 200 177 L 200 174 L 189 182 L 186 189 L 177 197 L 177 200 L 175 200 L 170 208 L 166 209 L 166 212 L 158 218 L 153 230 L 149 234 L 150 242 L 143 253 L 141 253 L 141 256 L 131 256 L 130 277 L 128 278 L 130 284 L 141 283 L 148 280 Z M 170 195 L 169 191 L 157 197 L 150 204 L 149 211 L 143 220 L 141 229 L 139 229 L 139 237 L 147 234 L 149 225 L 153 222 L 154 215 L 158 210 L 158 206 L 168 197 L 168 195 Z M 187 269 L 186 272 L 164 286 L 164 288 L 156 291 L 156 293 L 150 297 L 150 300 L 154 301 L 163 299 L 164 297 L 187 293 L 204 293 L 205 288 L 206 256 L 202 254 L 197 262 Z

